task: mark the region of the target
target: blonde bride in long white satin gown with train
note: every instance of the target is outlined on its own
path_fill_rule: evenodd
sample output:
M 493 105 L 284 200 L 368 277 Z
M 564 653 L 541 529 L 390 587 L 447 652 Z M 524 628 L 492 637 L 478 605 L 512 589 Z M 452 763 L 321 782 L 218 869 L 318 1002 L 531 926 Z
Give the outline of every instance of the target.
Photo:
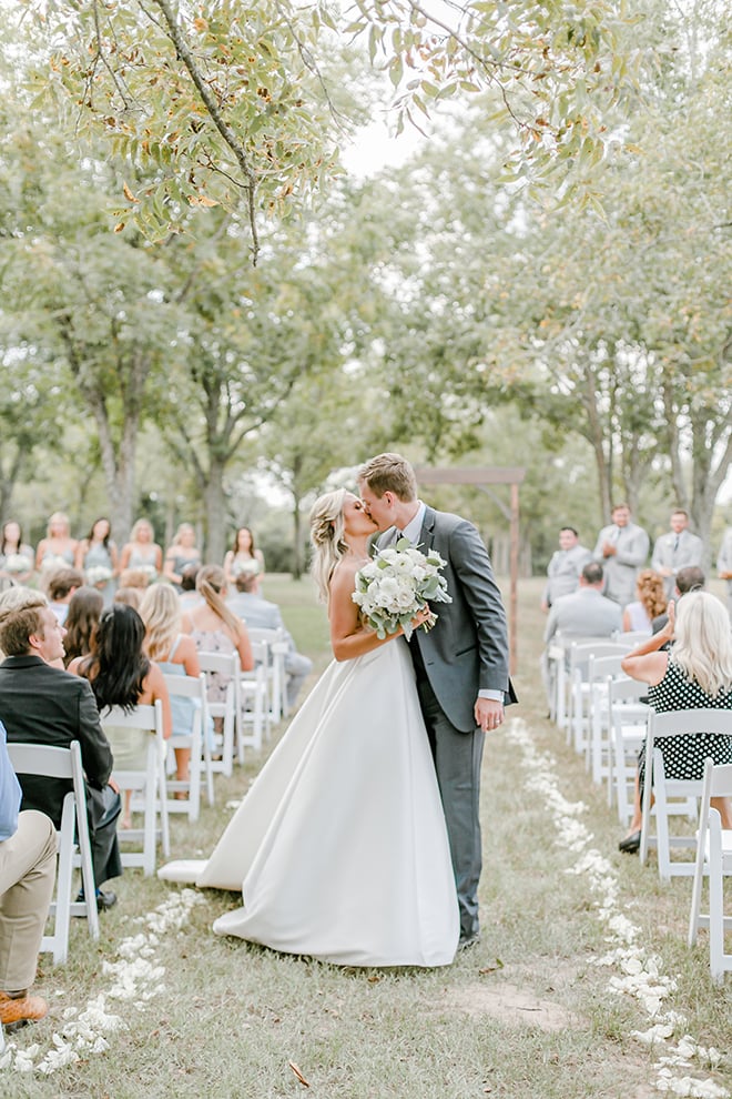
M 311 527 L 335 661 L 209 861 L 160 876 L 242 890 L 217 935 L 340 965 L 449 965 L 457 896 L 411 661 L 352 601 L 376 525 L 338 490 L 316 502 Z

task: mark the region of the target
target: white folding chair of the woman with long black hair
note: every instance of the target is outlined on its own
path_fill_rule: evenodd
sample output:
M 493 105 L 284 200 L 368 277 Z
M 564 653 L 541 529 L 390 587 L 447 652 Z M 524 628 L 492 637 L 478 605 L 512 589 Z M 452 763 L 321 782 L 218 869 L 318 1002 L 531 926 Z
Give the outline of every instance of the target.
M 163 737 L 163 704 L 160 698 L 153 706 L 135 706 L 125 714 L 121 706 L 112 706 L 100 714 L 102 728 L 142 729 L 150 734 L 146 766 L 140 770 L 114 767 L 112 777 L 121 790 L 142 794 L 142 828 L 119 830 L 121 843 L 142 840 L 142 850 L 121 853 L 123 866 L 140 866 L 144 874 L 155 873 L 155 849 L 160 837 L 163 855 L 170 855 L 167 821 L 167 782 L 165 777 L 166 742 Z M 112 748 L 112 750 L 114 750 Z M 134 808 L 134 806 L 133 806 Z M 160 826 L 157 817 L 160 816 Z

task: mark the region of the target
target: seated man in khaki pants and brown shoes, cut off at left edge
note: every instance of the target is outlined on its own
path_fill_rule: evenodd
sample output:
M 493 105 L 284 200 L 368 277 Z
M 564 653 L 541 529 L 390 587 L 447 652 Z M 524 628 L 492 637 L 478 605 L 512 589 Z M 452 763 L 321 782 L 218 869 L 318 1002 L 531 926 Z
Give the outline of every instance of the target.
M 0 722 L 0 1022 L 9 1030 L 48 1011 L 29 989 L 55 879 L 55 828 L 44 813 L 20 813 L 20 799 Z

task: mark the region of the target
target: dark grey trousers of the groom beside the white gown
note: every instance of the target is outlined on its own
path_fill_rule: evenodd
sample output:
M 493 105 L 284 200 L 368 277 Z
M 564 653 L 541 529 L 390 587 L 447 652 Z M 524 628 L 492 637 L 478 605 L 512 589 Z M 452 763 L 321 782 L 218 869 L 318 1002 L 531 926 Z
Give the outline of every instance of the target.
M 414 635 L 413 635 L 414 636 Z M 447 719 L 429 685 L 419 648 L 410 644 L 417 675 L 419 705 L 435 759 L 450 857 L 460 909 L 460 938 L 478 934 L 478 881 L 482 867 L 480 843 L 480 764 L 485 735 L 479 728 L 460 733 Z

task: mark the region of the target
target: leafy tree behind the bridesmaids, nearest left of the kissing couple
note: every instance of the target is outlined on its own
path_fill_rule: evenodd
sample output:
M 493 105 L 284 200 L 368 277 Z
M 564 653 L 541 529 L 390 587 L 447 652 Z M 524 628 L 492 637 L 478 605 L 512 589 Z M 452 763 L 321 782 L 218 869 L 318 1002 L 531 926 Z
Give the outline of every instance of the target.
M 240 448 L 284 409 L 296 423 L 299 410 L 288 403 L 296 381 L 340 361 L 333 283 L 303 226 L 291 239 L 273 235 L 256 270 L 242 260 L 236 219 L 223 218 L 221 228 L 170 258 L 180 329 L 175 384 L 161 415 L 172 453 L 193 470 L 205 502 L 212 559 L 223 556 L 226 475 Z

